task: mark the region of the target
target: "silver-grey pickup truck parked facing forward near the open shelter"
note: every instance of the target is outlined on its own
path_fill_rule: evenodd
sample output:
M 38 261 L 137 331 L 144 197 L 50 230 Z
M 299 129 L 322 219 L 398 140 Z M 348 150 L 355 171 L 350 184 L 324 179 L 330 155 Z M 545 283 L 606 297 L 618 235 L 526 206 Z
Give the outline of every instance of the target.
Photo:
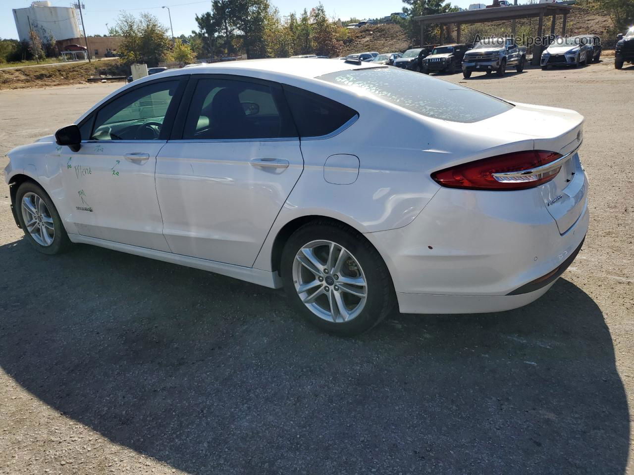
M 503 76 L 508 67 L 521 73 L 526 64 L 526 47 L 517 46 L 512 38 L 483 38 L 473 49 L 465 53 L 462 60 L 462 75 L 465 79 L 476 71 Z

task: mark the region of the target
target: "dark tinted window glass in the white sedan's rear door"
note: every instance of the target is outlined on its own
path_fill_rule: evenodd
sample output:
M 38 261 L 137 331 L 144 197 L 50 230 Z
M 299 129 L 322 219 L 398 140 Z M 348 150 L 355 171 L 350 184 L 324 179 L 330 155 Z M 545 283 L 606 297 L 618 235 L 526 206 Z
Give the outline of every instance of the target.
M 297 137 L 280 85 L 202 78 L 185 120 L 184 140 Z

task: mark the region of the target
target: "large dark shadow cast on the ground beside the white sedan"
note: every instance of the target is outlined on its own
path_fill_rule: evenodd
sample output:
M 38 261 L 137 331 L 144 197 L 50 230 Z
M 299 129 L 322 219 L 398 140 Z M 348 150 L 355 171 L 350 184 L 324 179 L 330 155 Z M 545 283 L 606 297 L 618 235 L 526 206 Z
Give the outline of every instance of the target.
M 115 443 L 191 473 L 624 473 L 629 414 L 566 279 L 500 314 L 320 333 L 281 291 L 76 246 L 0 247 L 0 365 Z

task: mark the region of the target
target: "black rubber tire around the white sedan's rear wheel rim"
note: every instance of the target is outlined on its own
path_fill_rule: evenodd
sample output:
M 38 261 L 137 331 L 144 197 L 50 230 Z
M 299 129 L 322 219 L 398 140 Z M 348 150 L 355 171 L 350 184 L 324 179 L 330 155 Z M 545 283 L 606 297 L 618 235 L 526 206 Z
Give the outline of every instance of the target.
M 343 246 L 354 256 L 363 270 L 367 285 L 366 302 L 361 313 L 346 322 L 335 323 L 314 314 L 304 305 L 295 289 L 293 277 L 295 256 L 306 244 L 318 240 L 332 241 Z M 280 272 L 288 299 L 297 312 L 323 331 L 339 336 L 355 336 L 368 331 L 391 312 L 396 302 L 392 279 L 377 250 L 361 234 L 337 222 L 319 220 L 297 229 L 284 246 Z M 333 287 L 330 289 L 330 293 L 332 293 L 336 282 L 335 284 L 331 282 L 331 285 Z M 327 296 L 327 294 L 324 293 L 323 296 Z

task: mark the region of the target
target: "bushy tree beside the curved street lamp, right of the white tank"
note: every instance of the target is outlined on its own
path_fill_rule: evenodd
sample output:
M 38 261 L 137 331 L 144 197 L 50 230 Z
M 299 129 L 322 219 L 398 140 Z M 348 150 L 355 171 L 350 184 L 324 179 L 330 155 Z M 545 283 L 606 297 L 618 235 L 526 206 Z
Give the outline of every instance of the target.
M 164 61 L 172 46 L 167 36 L 168 28 L 159 23 L 156 16 L 143 12 L 139 18 L 120 13 L 117 19 L 117 30 L 123 37 L 119 53 L 126 64 L 146 63 L 157 66 Z

